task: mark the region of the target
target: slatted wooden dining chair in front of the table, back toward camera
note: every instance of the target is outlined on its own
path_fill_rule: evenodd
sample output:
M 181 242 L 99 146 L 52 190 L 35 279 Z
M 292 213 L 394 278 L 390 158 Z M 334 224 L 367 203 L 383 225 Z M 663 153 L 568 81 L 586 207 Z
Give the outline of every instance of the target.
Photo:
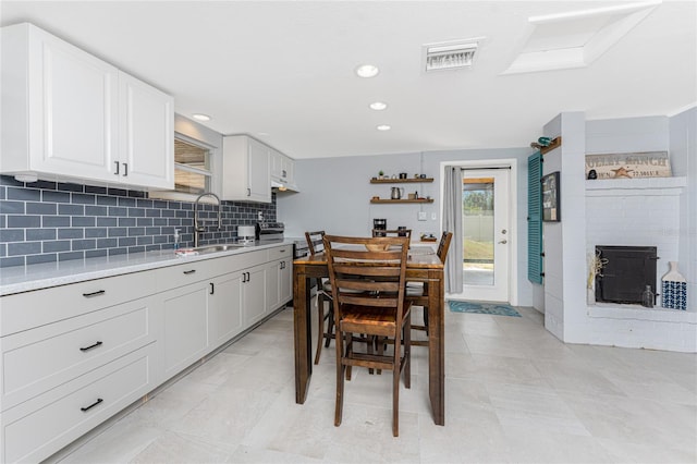
M 344 378 L 353 366 L 392 370 L 392 435 L 399 436 L 400 377 L 411 388 L 411 303 L 405 300 L 407 237 L 325 235 L 325 253 L 334 300 L 337 330 L 337 404 L 341 425 Z M 355 350 L 354 334 L 388 338 L 392 354 Z M 360 345 L 360 344 L 359 344 Z

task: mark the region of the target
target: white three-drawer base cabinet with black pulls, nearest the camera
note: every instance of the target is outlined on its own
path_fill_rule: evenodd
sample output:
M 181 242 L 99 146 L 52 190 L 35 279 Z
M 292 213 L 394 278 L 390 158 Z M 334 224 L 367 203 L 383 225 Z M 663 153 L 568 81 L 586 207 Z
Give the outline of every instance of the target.
M 0 462 L 39 462 L 159 383 L 147 272 L 0 300 Z

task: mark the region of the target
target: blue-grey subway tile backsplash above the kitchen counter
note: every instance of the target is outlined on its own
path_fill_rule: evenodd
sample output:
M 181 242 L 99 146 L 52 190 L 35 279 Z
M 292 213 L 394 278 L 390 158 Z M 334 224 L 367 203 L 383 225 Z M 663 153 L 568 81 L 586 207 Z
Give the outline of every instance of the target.
M 201 205 L 207 228 L 217 228 L 217 207 Z M 222 230 L 209 230 L 200 244 L 229 242 L 237 225 L 254 224 L 257 215 L 276 220 L 272 203 L 222 203 Z M 193 202 L 148 198 L 147 192 L 38 181 L 22 183 L 0 175 L 0 267 L 56 262 L 181 246 L 193 246 Z

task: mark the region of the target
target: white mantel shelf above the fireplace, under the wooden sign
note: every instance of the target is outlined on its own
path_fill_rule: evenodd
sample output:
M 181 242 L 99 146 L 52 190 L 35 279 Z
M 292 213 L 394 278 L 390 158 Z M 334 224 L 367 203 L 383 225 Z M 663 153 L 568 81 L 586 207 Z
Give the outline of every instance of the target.
M 680 195 L 686 186 L 687 178 L 602 179 L 586 181 L 586 195 Z

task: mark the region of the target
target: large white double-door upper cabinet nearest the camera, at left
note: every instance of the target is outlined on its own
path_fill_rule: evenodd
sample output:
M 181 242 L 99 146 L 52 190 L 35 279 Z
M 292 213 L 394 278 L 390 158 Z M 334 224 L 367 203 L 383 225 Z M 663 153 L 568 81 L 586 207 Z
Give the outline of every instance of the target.
M 0 172 L 174 187 L 172 97 L 30 24 L 1 39 Z

